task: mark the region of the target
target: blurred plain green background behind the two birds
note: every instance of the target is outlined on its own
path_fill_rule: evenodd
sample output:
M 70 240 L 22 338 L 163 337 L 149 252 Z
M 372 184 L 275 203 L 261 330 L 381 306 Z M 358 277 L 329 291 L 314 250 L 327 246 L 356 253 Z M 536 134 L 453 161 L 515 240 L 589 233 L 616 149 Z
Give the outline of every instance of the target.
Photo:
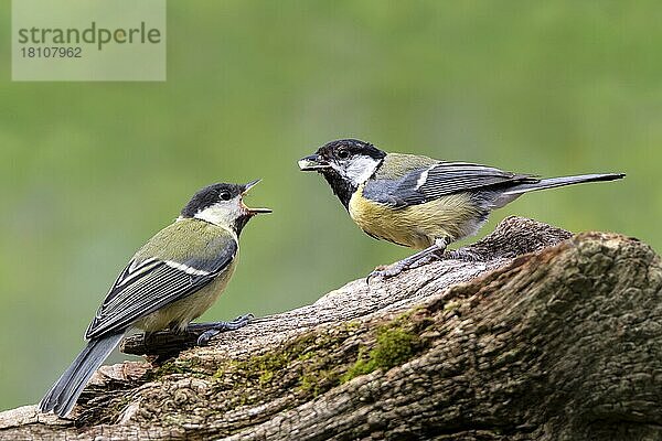
M 38 401 L 132 252 L 199 187 L 263 178 L 226 293 L 275 313 L 409 254 L 363 235 L 296 161 L 392 151 L 624 181 L 496 212 L 662 247 L 662 3 L 171 1 L 166 83 L 10 82 L 0 3 L 0 408 Z M 115 356 L 114 359 L 125 357 Z

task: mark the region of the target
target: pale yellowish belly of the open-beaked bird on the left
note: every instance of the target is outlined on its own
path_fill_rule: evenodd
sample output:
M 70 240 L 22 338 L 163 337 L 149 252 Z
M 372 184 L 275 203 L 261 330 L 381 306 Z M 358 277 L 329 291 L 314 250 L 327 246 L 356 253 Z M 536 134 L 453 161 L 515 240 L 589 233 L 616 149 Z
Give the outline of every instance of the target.
M 183 331 L 189 323 L 202 315 L 218 299 L 234 272 L 235 263 L 236 258 L 227 270 L 218 275 L 210 284 L 182 300 L 146 315 L 137 321 L 134 326 L 143 331 L 156 332 L 175 324 L 177 327 Z

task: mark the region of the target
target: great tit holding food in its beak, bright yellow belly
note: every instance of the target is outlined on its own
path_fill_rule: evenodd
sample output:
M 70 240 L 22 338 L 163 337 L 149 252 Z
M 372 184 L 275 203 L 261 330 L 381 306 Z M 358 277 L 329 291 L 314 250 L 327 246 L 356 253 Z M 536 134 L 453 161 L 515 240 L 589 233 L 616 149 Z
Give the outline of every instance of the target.
M 331 141 L 302 158 L 299 168 L 321 173 L 370 236 L 423 249 L 378 268 L 369 280 L 393 277 L 424 258 L 442 256 L 449 244 L 474 235 L 492 209 L 524 193 L 624 176 L 600 173 L 538 179 L 468 162 L 386 153 L 356 139 Z M 462 254 L 456 250 L 451 257 Z

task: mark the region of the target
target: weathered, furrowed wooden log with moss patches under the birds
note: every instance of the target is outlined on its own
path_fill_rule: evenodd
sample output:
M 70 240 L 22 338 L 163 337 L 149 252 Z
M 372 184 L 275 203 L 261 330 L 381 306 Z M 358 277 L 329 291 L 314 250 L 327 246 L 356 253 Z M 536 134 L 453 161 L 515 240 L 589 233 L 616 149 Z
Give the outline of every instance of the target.
M 192 337 L 131 337 L 161 362 L 99 369 L 68 420 L 2 412 L 0 439 L 662 440 L 649 246 L 511 217 L 469 248 L 166 362 Z

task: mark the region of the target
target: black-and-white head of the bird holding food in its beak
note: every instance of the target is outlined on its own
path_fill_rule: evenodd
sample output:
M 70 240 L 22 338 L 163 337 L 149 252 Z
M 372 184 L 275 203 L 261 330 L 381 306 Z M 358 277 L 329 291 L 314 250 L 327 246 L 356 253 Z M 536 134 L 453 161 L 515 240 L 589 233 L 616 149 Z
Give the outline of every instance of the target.
M 299 161 L 301 171 L 321 173 L 345 208 L 352 193 L 378 169 L 386 152 L 370 142 L 339 139 Z

